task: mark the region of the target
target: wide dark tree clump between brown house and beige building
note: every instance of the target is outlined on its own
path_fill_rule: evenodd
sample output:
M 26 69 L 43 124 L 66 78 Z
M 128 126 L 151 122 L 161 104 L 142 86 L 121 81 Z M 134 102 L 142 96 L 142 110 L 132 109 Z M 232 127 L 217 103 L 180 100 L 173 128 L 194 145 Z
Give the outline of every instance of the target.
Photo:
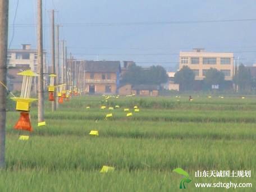
M 151 66 L 149 69 L 144 69 L 132 64 L 122 77 L 121 83 L 129 83 L 132 85 L 160 85 L 161 83 L 166 83 L 167 80 L 168 76 L 166 70 L 162 66 Z

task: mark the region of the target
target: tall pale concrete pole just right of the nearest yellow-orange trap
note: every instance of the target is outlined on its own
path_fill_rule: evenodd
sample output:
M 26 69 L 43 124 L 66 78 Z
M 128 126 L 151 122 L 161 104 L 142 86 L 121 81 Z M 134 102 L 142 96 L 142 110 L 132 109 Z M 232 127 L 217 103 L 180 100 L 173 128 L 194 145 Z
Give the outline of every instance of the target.
M 37 23 L 37 47 L 38 47 L 38 122 L 44 121 L 44 66 L 43 66 L 43 19 L 42 0 L 38 0 L 38 23 Z

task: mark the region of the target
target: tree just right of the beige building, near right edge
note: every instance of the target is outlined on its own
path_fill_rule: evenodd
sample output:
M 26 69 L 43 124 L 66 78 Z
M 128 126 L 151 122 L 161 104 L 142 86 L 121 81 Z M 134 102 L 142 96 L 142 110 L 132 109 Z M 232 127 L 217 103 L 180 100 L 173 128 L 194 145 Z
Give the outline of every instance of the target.
M 250 90 L 252 88 L 252 75 L 250 70 L 241 64 L 236 72 L 233 81 L 238 85 L 240 91 Z

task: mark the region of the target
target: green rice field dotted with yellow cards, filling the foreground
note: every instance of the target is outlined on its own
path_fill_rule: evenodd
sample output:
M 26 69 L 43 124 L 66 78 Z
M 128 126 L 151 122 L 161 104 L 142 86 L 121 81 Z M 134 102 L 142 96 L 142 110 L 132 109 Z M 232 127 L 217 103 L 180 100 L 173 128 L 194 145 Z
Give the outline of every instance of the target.
M 218 181 L 250 182 L 252 188 L 238 191 L 255 191 L 256 97 L 196 95 L 190 102 L 175 96 L 80 96 L 56 112 L 46 102 L 47 125 L 36 126 L 33 106 L 34 131 L 26 141 L 12 128 L 19 112 L 9 111 L 0 191 L 176 191 L 182 179 L 172 172 L 177 167 L 190 175 L 188 191 L 223 191 L 194 185 Z M 106 119 L 108 113 L 113 117 Z M 100 173 L 102 166 L 115 171 Z M 252 176 L 200 178 L 198 170 L 250 170 Z

